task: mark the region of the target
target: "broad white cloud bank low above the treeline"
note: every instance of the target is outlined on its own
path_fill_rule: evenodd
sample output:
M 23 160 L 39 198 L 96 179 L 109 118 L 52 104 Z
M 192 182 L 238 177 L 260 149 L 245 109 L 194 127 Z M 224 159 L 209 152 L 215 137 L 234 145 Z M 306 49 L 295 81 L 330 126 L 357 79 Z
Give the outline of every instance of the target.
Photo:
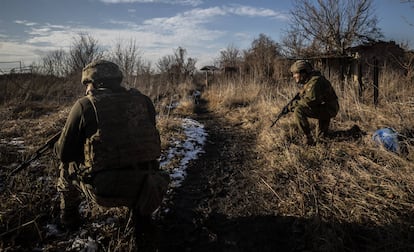
M 133 0 L 101 1 L 115 3 Z M 141 0 L 140 2 L 143 1 L 155 2 L 156 0 Z M 196 1 L 174 0 L 168 2 L 195 3 Z M 111 48 L 119 41 L 133 39 L 137 42 L 140 50 L 142 50 L 144 57 L 149 58 L 149 61 L 152 62 L 157 61 L 163 56 L 172 54 L 173 50 L 179 46 L 185 48 L 190 57 L 200 58 L 199 62 L 206 62 L 207 58 L 211 60 L 211 58 L 217 56 L 220 48 L 223 47 L 223 43 L 237 41 L 240 45 L 246 45 L 250 42 L 251 38 L 249 38 L 243 29 L 238 33 L 230 34 L 229 31 L 222 28 L 218 20 L 230 16 L 238 16 L 241 18 L 284 18 L 280 13 L 270 9 L 241 5 L 225 5 L 209 8 L 193 8 L 188 11 L 179 12 L 171 17 L 151 18 L 141 23 L 112 19 L 106 21 L 105 28 L 97 28 L 79 23 L 57 25 L 16 20 L 16 24 L 28 27 L 28 30 L 25 30 L 25 32 L 29 35 L 29 38 L 25 41 L 27 47 L 24 48 L 23 43 L 16 44 L 16 49 L 13 49 L 13 51 L 18 52 L 20 50 L 24 52 L 23 54 L 33 55 L 37 53 L 42 56 L 46 50 L 69 50 L 77 34 L 86 32 L 95 38 L 103 48 Z M 226 37 L 229 34 L 231 37 Z

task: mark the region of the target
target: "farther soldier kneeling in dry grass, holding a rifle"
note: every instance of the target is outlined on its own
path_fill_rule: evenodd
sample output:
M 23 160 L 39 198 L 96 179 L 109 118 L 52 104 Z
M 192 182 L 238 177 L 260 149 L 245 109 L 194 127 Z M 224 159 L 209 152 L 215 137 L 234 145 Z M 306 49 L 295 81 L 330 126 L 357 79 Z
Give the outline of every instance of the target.
M 330 120 L 339 110 L 338 96 L 331 83 L 320 72 L 314 71 L 309 62 L 298 60 L 290 70 L 299 86 L 300 99 L 295 100 L 289 110 L 305 134 L 306 144 L 314 145 L 308 118 L 318 119 L 317 138 L 326 137 Z

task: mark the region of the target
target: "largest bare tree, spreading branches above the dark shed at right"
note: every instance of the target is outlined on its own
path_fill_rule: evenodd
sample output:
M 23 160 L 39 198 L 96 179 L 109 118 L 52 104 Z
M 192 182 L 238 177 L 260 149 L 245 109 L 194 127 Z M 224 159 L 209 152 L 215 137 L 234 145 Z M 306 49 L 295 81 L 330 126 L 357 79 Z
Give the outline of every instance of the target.
M 343 54 L 352 45 L 382 37 L 372 0 L 294 0 L 291 32 L 326 53 Z

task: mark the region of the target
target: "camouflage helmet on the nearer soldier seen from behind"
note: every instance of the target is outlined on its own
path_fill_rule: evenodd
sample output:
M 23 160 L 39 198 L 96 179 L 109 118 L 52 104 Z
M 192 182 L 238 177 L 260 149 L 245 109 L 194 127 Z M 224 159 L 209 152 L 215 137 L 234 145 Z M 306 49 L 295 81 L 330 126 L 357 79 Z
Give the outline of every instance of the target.
M 86 65 L 82 70 L 82 84 L 92 82 L 94 85 L 100 85 L 101 83 L 121 84 L 123 75 L 118 65 L 106 61 L 97 60 Z

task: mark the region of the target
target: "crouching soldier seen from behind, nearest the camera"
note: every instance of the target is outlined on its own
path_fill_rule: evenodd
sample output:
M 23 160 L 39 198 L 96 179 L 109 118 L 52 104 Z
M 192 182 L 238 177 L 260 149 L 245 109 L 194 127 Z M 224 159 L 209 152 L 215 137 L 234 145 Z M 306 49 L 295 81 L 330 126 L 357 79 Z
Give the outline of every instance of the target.
M 154 105 L 138 90 L 123 88 L 122 78 L 118 66 L 104 60 L 82 71 L 87 94 L 73 105 L 55 144 L 61 161 L 60 217 L 63 227 L 79 227 L 83 192 L 100 206 L 128 207 L 140 240 L 167 191 L 169 176 L 159 168 Z

